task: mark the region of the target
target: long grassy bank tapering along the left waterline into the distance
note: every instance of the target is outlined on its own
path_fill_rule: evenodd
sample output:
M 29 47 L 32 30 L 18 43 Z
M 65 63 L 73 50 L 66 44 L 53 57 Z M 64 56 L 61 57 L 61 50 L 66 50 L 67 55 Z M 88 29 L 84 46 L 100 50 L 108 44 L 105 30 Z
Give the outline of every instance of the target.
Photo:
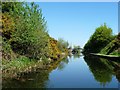
M 55 66 L 53 65 L 57 65 L 57 63 L 59 63 L 63 58 L 65 58 L 66 55 L 64 56 L 61 55 L 61 57 L 58 58 L 56 61 L 50 58 L 46 61 L 42 59 L 33 60 L 25 56 L 21 56 L 11 61 L 2 60 L 2 77 L 3 79 L 20 77 L 22 76 L 22 74 L 36 72 L 37 69 L 39 70 L 49 69 L 49 71 L 51 71 L 53 67 L 55 68 Z

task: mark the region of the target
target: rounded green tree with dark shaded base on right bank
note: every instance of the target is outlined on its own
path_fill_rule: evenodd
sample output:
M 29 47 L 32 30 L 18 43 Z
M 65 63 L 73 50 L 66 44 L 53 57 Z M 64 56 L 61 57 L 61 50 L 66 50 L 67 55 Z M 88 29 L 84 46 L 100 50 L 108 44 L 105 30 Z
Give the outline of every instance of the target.
M 101 25 L 85 44 L 83 52 L 98 53 L 113 39 L 112 29 L 107 27 L 106 24 Z

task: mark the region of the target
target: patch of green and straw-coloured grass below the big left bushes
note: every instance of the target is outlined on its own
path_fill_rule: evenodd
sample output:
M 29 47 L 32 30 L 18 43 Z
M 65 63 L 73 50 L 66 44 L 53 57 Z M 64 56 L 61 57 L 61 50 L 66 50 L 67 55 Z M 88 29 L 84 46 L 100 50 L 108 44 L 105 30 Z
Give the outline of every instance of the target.
M 22 72 L 30 72 L 36 68 L 42 68 L 42 62 L 31 60 L 25 56 L 21 56 L 15 60 L 2 60 L 2 73 L 4 77 L 15 77 Z

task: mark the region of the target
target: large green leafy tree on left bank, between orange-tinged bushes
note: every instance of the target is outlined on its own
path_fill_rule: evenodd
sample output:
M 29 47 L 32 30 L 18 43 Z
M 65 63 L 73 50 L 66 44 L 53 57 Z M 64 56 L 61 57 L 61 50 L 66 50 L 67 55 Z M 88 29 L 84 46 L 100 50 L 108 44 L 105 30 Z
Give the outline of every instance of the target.
M 9 4 L 6 4 L 9 7 Z M 47 57 L 48 33 L 41 9 L 39 10 L 34 3 L 10 3 L 10 6 L 14 6 L 9 10 L 9 14 L 14 17 L 15 25 L 12 29 L 5 28 L 5 30 L 10 31 L 9 41 L 12 49 L 30 58 Z M 12 30 L 13 32 L 11 32 Z

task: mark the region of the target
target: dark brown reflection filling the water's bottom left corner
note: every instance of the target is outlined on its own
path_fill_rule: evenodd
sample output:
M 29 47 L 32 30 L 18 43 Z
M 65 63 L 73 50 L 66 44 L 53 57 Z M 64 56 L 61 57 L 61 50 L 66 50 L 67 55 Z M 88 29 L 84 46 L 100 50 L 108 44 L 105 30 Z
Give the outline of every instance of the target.
M 3 88 L 45 88 L 49 81 L 49 72 L 42 70 L 24 74 L 14 79 L 7 78 L 2 81 Z

